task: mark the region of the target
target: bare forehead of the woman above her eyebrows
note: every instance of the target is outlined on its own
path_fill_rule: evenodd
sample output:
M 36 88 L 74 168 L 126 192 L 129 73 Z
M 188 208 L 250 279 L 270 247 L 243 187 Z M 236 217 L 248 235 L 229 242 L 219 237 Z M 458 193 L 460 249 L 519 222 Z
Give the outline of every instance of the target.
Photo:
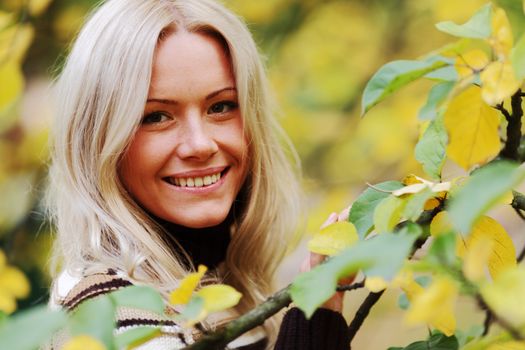
M 153 60 L 150 96 L 204 91 L 217 85 L 235 86 L 229 55 L 218 38 L 181 30 L 159 41 Z

